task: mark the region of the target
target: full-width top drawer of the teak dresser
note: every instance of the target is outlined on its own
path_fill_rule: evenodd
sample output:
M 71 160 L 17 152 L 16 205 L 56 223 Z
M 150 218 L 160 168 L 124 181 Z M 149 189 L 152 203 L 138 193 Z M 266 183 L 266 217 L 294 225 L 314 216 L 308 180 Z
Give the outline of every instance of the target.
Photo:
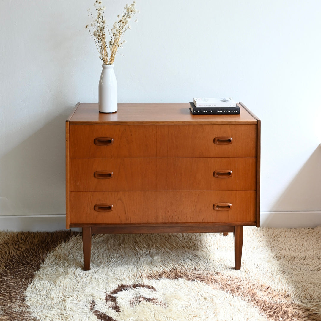
M 256 157 L 256 125 L 70 125 L 70 158 Z

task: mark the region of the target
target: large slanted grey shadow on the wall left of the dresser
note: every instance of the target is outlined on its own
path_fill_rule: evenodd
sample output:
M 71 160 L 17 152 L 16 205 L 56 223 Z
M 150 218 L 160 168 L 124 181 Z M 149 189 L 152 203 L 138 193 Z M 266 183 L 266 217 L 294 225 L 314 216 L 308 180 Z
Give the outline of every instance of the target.
M 65 213 L 68 112 L 66 108 L 0 159 L 0 215 Z

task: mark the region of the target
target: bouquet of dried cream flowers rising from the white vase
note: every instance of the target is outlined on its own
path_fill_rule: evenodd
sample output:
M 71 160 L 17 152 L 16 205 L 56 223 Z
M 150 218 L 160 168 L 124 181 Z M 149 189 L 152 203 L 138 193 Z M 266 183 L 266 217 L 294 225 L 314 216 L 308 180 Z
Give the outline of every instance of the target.
M 92 17 L 92 22 L 86 25 L 86 28 L 89 30 L 91 37 L 95 40 L 96 47 L 100 54 L 99 58 L 104 65 L 112 65 L 114 63 L 116 53 L 126 42 L 126 40 L 123 40 L 123 36 L 127 29 L 131 29 L 129 21 L 133 16 L 136 17 L 136 13 L 139 13 L 139 10 L 135 8 L 135 3 L 136 2 L 133 1 L 130 5 L 126 4 L 123 14 L 117 16 L 117 21 L 110 30 L 105 20 L 106 7 L 102 6 L 100 0 L 96 0 L 94 3 L 94 7 L 97 11 L 96 19 L 94 19 L 91 10 L 88 9 L 88 16 Z M 135 22 L 137 22 L 137 19 Z M 110 37 L 108 43 L 106 41 L 106 30 Z

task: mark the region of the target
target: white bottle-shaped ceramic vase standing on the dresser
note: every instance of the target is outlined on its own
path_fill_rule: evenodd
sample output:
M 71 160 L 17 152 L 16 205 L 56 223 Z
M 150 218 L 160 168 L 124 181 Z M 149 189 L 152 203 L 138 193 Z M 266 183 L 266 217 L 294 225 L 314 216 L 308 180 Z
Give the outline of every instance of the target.
M 98 86 L 98 109 L 101 113 L 117 111 L 117 80 L 114 65 L 101 65 Z

